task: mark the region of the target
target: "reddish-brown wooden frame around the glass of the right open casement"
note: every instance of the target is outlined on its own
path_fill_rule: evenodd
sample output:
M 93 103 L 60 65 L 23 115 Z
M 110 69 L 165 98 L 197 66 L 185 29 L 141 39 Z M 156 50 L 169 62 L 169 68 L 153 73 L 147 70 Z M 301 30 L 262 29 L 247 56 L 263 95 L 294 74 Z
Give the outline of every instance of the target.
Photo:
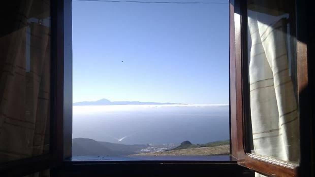
M 237 7 L 237 6 L 235 6 Z M 252 158 L 249 156 L 250 154 L 245 155 L 245 159 L 243 159 L 242 154 L 242 145 L 243 150 L 246 152 L 246 148 L 244 146 L 246 140 L 246 133 L 250 133 L 246 130 L 246 126 L 249 126 L 246 119 L 249 119 L 249 112 L 246 112 L 246 108 L 248 105 L 243 104 L 242 108 L 239 108 L 238 105 L 241 104 L 239 102 L 246 103 L 247 97 L 245 94 L 246 86 L 248 83 L 246 82 L 247 75 L 247 67 L 245 63 L 247 63 L 247 54 L 244 50 L 247 47 L 247 31 L 244 30 L 247 27 L 246 17 L 246 1 L 242 1 L 240 5 L 240 14 L 235 13 L 235 67 L 236 67 L 236 102 L 237 102 L 237 132 L 238 132 L 238 163 L 244 165 L 250 169 L 253 169 L 259 173 L 270 175 L 270 176 L 312 176 L 314 174 L 314 150 L 313 150 L 313 136 L 314 136 L 314 121 L 312 105 L 314 105 L 313 97 L 314 93 L 311 92 L 310 88 L 314 85 L 311 81 L 311 76 L 314 73 L 311 71 L 311 68 L 314 67 L 314 62 L 308 60 L 310 56 L 314 56 L 314 50 L 310 51 L 310 48 L 314 49 L 314 35 L 312 33 L 312 17 L 306 15 L 308 12 L 306 7 L 306 1 L 296 1 L 296 30 L 291 30 L 292 35 L 297 38 L 297 82 L 298 82 L 298 97 L 299 97 L 299 113 L 300 113 L 300 142 L 301 142 L 301 163 L 299 167 L 289 168 L 288 166 L 282 166 L 278 164 L 271 163 L 269 161 L 264 161 L 259 158 Z M 308 8 L 310 10 L 310 8 Z M 235 10 L 236 11 L 236 10 Z M 291 19 L 292 22 L 295 22 L 295 19 Z M 240 21 L 240 26 L 237 21 Z M 243 30 L 242 30 L 243 29 Z M 245 33 L 246 31 L 246 33 Z M 243 34 L 243 36 L 242 36 Z M 239 41 L 239 42 L 238 42 Z M 241 46 L 241 48 L 238 48 Z M 243 50 L 243 52 L 242 52 Z M 238 53 L 239 52 L 239 53 Z M 241 55 L 241 56 L 240 56 Z M 243 65 L 242 65 L 243 62 Z M 238 69 L 241 69 L 239 71 Z M 243 77 L 242 77 L 243 73 Z M 239 79 L 238 77 L 241 77 Z M 239 86 L 239 81 L 243 80 L 243 83 Z M 312 87 L 313 88 L 313 87 Z M 239 94 L 243 94 L 243 99 L 241 99 Z M 243 111 L 242 120 L 238 115 Z M 313 113 L 313 114 L 312 114 Z M 246 126 L 245 126 L 246 125 Z M 239 131 L 242 129 L 242 133 Z M 249 150 L 247 148 L 247 150 Z M 276 160 L 277 161 L 277 160 Z M 280 162 L 280 161 L 278 161 Z

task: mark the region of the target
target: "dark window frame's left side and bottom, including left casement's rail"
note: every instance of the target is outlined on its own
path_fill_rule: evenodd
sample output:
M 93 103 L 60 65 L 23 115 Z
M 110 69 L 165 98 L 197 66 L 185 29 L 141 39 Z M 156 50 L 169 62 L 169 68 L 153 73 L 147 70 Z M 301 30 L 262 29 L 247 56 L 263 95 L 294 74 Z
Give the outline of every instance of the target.
M 202 175 L 206 173 L 224 176 L 232 174 L 253 176 L 253 171 L 239 166 L 233 157 L 230 157 L 228 161 L 71 161 L 72 0 L 51 0 L 51 47 L 49 154 L 1 164 L 0 176 L 23 176 L 45 169 L 50 169 L 52 176 Z

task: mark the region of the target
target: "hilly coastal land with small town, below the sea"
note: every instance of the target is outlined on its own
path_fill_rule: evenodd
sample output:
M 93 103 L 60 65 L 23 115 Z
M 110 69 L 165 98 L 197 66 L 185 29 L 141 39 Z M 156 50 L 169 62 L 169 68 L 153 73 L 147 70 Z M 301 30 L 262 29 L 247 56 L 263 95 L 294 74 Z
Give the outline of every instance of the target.
M 153 144 L 135 144 L 126 145 L 111 143 L 105 141 L 95 141 L 88 138 L 72 139 L 72 155 L 214 155 L 228 154 L 229 140 L 215 141 L 206 144 L 192 144 L 189 141 L 184 141 L 180 146 L 175 147 L 168 145 L 153 145 Z M 144 153 L 146 152 L 146 153 Z

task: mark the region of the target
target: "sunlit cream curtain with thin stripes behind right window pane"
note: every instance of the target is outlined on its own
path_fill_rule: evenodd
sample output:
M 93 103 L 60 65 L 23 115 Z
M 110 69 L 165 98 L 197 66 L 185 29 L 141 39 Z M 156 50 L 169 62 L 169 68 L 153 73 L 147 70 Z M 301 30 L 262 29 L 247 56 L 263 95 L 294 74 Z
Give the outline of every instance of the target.
M 299 118 L 289 73 L 287 23 L 249 12 L 249 90 L 254 152 L 298 163 Z

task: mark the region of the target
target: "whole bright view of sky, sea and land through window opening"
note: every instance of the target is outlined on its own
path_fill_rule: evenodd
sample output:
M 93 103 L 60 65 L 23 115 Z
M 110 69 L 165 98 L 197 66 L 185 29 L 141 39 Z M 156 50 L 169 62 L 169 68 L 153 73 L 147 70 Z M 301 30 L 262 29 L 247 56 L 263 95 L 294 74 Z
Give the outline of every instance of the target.
M 72 159 L 230 153 L 228 3 L 176 2 L 72 2 Z

